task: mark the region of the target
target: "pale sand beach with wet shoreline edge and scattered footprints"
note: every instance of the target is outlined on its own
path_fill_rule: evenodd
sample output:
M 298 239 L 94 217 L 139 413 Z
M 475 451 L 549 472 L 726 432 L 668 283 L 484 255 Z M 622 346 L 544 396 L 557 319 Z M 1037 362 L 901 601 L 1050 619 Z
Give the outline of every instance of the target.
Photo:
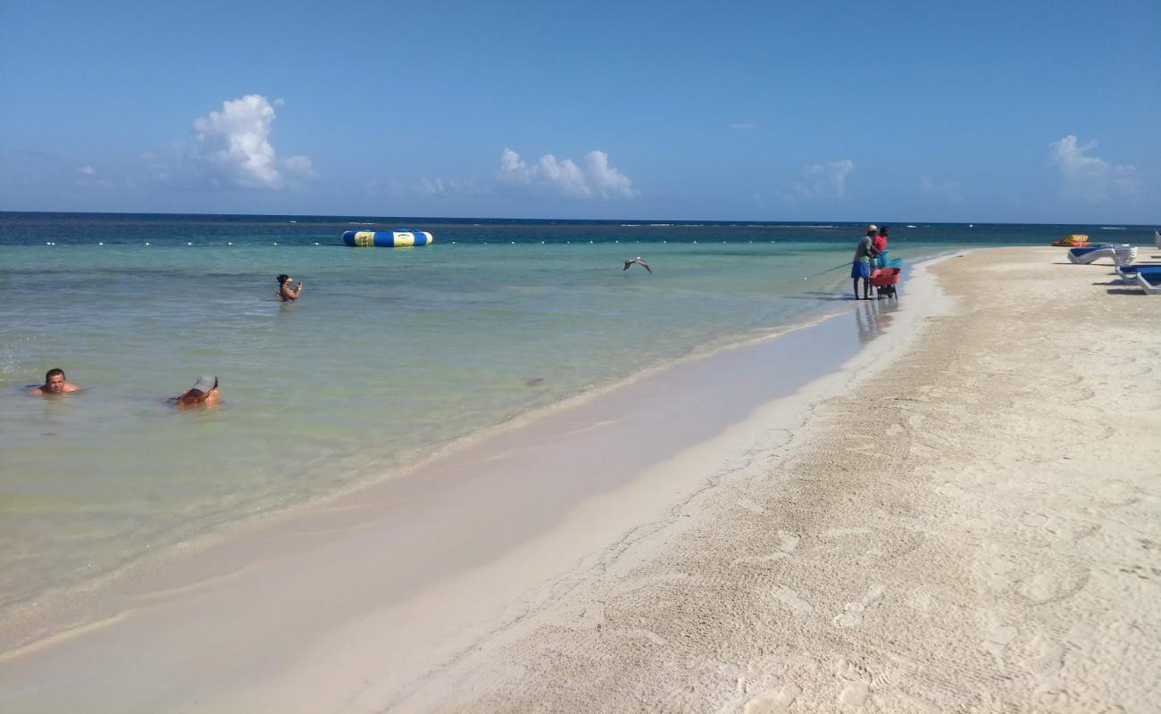
M 809 349 L 45 605 L 0 625 L 0 712 L 1156 711 L 1161 300 L 1110 273 L 921 265 Z

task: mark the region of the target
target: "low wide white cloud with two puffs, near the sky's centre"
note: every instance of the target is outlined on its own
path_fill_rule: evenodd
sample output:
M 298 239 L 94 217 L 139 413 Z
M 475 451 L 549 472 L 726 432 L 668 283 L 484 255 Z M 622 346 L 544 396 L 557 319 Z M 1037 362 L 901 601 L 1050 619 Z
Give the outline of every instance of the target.
M 510 186 L 547 188 L 577 199 L 632 197 L 637 193 L 633 181 L 610 165 L 604 151 L 590 151 L 582 167 L 572 159 L 557 159 L 550 153 L 527 164 L 517 152 L 504 149 L 497 178 Z

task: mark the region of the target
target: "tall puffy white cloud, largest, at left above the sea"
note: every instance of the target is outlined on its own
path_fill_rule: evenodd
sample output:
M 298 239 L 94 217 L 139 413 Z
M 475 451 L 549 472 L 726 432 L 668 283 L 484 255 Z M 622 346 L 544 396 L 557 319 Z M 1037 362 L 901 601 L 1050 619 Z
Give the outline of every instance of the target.
M 194 120 L 193 142 L 145 159 L 159 179 L 188 186 L 282 189 L 315 179 L 309 157 L 279 160 L 271 144 L 274 107 L 282 103 L 261 94 L 224 101 L 221 111 Z

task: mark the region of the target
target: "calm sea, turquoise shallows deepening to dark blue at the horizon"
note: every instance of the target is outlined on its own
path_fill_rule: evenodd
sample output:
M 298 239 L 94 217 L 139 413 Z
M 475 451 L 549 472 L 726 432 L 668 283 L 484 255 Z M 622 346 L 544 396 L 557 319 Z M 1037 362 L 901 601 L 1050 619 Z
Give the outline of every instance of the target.
M 842 309 L 845 268 L 824 271 L 859 235 L 412 221 L 435 245 L 338 245 L 348 228 L 395 225 L 0 215 L 0 612 L 396 474 L 527 410 Z M 1074 229 L 900 226 L 892 254 Z M 1118 231 L 1137 232 L 1152 236 Z M 655 272 L 621 271 L 635 255 Z M 300 303 L 274 298 L 280 272 L 304 281 Z M 85 390 L 23 394 L 49 367 Z M 164 403 L 202 373 L 221 378 L 219 408 Z

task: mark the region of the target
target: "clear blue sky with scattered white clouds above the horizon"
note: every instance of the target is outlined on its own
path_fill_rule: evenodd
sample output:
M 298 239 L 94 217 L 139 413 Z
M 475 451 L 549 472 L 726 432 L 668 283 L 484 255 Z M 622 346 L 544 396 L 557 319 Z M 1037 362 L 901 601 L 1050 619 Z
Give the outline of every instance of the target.
M 0 0 L 0 210 L 1161 222 L 1161 3 Z

